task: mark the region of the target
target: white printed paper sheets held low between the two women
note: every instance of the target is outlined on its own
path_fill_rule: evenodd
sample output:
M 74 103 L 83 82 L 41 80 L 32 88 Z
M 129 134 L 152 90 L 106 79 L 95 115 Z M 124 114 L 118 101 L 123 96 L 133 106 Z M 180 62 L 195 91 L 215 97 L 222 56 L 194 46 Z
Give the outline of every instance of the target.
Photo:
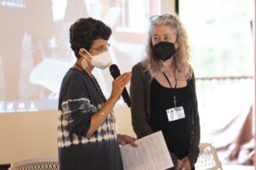
M 137 148 L 120 148 L 125 170 L 165 170 L 173 167 L 172 158 L 161 131 L 135 141 Z

